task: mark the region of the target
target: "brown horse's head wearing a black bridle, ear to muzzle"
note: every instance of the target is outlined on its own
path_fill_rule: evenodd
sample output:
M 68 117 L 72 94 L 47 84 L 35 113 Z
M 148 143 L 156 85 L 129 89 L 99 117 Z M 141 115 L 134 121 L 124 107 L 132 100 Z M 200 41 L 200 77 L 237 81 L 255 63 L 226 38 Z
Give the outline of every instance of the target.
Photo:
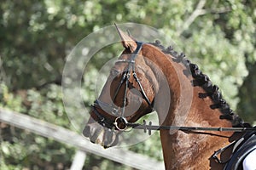
M 107 82 L 94 105 L 90 119 L 84 127 L 84 136 L 90 141 L 108 148 L 119 142 L 119 134 L 128 122 L 153 111 L 157 82 L 143 57 L 144 44 L 119 32 L 125 48 L 113 65 Z

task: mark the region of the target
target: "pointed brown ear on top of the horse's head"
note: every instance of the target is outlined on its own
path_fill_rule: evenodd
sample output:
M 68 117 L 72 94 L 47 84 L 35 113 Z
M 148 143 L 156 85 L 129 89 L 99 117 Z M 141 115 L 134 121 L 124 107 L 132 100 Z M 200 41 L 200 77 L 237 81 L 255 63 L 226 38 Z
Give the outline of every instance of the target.
M 122 39 L 124 48 L 129 48 L 131 53 L 133 53 L 137 48 L 136 40 L 133 37 L 125 34 L 125 32 L 121 31 L 116 24 L 114 24 L 114 26 L 116 27 L 117 31 L 119 32 L 119 36 Z

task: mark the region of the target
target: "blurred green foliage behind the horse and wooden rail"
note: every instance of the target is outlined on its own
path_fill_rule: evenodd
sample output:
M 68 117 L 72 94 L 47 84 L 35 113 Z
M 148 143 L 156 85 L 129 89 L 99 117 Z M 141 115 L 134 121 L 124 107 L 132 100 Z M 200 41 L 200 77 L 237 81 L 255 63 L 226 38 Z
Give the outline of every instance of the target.
M 256 120 L 255 1 L 2 0 L 0 14 L 1 107 L 72 128 L 61 101 L 67 54 L 92 31 L 114 22 L 136 22 L 165 32 L 220 86 L 241 117 Z M 109 48 L 92 59 L 88 75 L 94 77 L 119 52 Z M 91 90 L 83 92 L 88 105 L 95 98 Z M 0 169 L 70 167 L 74 148 L 4 123 L 0 129 Z M 162 159 L 157 133 L 129 149 Z M 85 166 L 131 169 L 92 155 Z

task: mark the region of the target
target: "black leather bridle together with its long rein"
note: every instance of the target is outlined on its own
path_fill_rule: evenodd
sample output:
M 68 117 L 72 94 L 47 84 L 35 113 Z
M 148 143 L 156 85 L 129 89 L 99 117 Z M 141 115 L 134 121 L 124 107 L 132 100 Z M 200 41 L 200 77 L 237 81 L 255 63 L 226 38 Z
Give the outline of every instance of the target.
M 126 105 L 126 96 L 127 96 L 127 89 L 129 85 L 129 79 L 132 76 L 135 78 L 137 84 L 139 85 L 141 89 L 141 94 L 143 95 L 143 99 L 146 100 L 148 105 L 151 107 L 152 111 L 154 111 L 154 107 L 150 100 L 148 99 L 147 94 L 145 94 L 145 91 L 143 90 L 142 83 L 137 78 L 137 74 L 135 71 L 135 59 L 137 57 L 137 54 L 140 52 L 140 50 L 143 47 L 143 42 L 137 42 L 137 48 L 136 50 L 131 54 L 131 59 L 118 59 L 116 62 L 126 62 L 128 63 L 128 68 L 123 74 L 123 77 L 121 78 L 118 88 L 116 89 L 114 95 L 113 95 L 113 102 L 116 99 L 117 95 L 119 94 L 119 90 L 121 86 L 125 83 L 125 94 L 123 99 L 123 107 L 117 107 L 113 104 L 108 104 L 105 102 L 102 102 L 100 99 L 96 99 L 94 102 L 94 105 L 91 105 L 92 111 L 95 113 L 97 120 L 99 124 L 101 124 L 103 127 L 108 127 L 109 129 L 113 130 L 119 130 L 119 131 L 125 131 L 127 128 L 131 127 L 134 129 L 143 129 L 144 133 L 147 133 L 150 135 L 152 130 L 181 130 L 181 131 L 189 131 L 189 132 L 195 132 L 200 133 L 198 131 L 229 131 L 229 132 L 245 132 L 245 131 L 256 131 L 255 127 L 180 127 L 180 126 L 155 126 L 152 125 L 152 122 L 149 122 L 148 125 L 146 121 L 143 120 L 143 124 L 140 123 L 132 123 L 128 122 L 125 117 L 125 105 Z M 114 121 L 107 116 L 103 116 L 97 109 L 102 110 L 104 112 L 111 113 L 115 116 Z M 119 114 L 120 112 L 120 114 Z M 91 113 L 90 113 L 91 114 Z

